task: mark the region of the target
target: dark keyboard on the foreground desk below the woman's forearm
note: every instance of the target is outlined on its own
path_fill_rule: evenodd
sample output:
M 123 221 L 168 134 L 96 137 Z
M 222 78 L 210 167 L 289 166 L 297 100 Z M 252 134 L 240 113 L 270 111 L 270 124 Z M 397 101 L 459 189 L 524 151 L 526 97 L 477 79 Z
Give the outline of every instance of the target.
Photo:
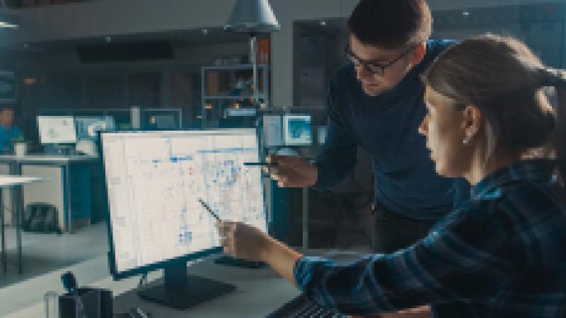
M 279 307 L 279 309 L 275 310 L 275 312 L 267 315 L 267 318 L 283 317 L 347 318 L 348 316 L 331 312 L 330 310 L 311 302 L 311 300 L 308 300 L 305 295 L 299 295 L 293 300 L 287 302 L 287 304 Z

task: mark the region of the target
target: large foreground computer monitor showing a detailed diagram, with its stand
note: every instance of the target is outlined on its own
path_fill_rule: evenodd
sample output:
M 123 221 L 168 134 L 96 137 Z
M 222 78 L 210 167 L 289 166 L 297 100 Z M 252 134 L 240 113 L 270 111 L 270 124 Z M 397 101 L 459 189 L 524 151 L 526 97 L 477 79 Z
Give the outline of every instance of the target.
M 179 308 L 233 289 L 205 278 L 187 282 L 187 261 L 221 251 L 200 198 L 220 218 L 267 231 L 261 171 L 243 165 L 260 159 L 255 129 L 103 132 L 100 146 L 112 275 L 164 268 L 165 283 L 139 295 Z

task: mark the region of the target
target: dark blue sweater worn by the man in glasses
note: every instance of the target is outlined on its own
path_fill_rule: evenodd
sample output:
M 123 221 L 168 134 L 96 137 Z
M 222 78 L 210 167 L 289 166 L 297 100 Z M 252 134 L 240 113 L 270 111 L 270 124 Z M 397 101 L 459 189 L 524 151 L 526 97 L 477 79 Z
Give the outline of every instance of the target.
M 373 156 L 379 206 L 417 220 L 432 220 L 451 211 L 453 201 L 469 196 L 466 182 L 439 177 L 418 127 L 426 114 L 420 75 L 453 42 L 429 41 L 420 64 L 395 88 L 376 97 L 364 93 L 351 63 L 330 80 L 328 136 L 318 155 L 316 188 L 332 187 L 347 177 L 357 146 Z M 461 185 L 463 184 L 463 187 Z

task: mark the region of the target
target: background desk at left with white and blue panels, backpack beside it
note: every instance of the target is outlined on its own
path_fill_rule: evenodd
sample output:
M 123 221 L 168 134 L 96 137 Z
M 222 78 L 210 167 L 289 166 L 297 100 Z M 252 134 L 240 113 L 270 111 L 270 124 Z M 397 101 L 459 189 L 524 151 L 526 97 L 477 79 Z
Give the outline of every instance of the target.
M 38 175 L 48 180 L 44 187 L 24 189 L 23 205 L 33 202 L 52 204 L 59 211 L 59 228 L 74 232 L 74 219 L 90 224 L 90 166 L 79 169 L 83 163 L 96 163 L 98 157 L 89 155 L 0 155 L 0 164 L 9 166 L 10 175 Z M 71 170 L 71 166 L 77 167 Z M 52 171 L 55 170 L 55 171 Z M 79 173 L 74 173 L 78 170 Z M 76 180 L 81 180 L 77 182 Z M 74 187 L 83 184 L 82 187 Z M 75 190 L 75 191 L 74 191 Z M 16 204 L 15 198 L 11 198 Z M 88 209 L 88 210 L 87 210 Z M 81 213 L 81 211 L 86 211 Z M 88 220 L 87 220 L 88 219 Z

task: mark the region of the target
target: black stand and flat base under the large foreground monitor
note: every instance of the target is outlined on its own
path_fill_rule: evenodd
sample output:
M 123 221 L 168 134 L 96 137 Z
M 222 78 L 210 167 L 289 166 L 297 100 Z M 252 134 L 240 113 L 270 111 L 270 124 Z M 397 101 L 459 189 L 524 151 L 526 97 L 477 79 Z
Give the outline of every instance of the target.
M 235 285 L 187 275 L 186 261 L 172 261 L 165 267 L 164 281 L 139 290 L 145 300 L 178 309 L 187 309 L 236 290 Z

